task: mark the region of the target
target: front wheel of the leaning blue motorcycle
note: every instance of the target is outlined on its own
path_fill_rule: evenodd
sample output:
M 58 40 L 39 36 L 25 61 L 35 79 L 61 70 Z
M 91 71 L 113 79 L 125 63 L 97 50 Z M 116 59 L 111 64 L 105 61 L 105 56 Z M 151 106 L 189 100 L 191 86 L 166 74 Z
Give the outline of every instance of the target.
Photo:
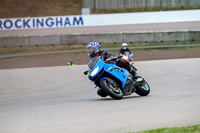
M 113 99 L 119 100 L 123 98 L 123 92 L 115 82 L 103 79 L 100 81 L 101 89 Z

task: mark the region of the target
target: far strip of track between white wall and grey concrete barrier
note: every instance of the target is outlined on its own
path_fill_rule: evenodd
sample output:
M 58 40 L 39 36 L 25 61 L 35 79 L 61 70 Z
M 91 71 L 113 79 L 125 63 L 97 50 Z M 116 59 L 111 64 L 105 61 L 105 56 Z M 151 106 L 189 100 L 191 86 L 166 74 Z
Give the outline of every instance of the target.
M 200 21 L 0 31 L 0 37 L 200 30 Z

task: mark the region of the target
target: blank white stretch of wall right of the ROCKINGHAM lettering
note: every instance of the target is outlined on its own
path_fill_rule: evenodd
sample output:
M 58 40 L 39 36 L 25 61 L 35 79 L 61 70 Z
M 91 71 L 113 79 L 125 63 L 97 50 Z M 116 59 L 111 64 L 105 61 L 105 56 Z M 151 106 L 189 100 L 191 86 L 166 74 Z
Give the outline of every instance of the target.
M 84 26 L 200 21 L 200 10 L 119 13 L 84 16 Z

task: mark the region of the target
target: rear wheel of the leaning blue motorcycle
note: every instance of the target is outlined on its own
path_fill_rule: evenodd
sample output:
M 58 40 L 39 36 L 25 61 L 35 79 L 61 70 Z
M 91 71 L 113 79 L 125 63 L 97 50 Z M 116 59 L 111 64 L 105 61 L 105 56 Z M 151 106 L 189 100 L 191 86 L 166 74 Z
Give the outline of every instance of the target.
M 135 88 L 135 93 L 137 93 L 140 96 L 147 96 L 150 93 L 150 87 L 145 80 L 140 82 L 137 86 L 135 86 Z

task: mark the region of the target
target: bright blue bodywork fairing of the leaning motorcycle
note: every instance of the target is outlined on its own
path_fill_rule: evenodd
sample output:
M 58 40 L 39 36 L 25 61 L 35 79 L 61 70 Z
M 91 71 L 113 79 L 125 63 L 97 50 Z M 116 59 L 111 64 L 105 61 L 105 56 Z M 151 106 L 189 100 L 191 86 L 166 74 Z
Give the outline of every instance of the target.
M 98 66 L 99 66 L 98 72 L 94 76 L 91 76 L 91 73 Z M 101 81 L 102 79 L 106 78 L 106 77 L 101 77 L 101 79 L 99 79 L 99 77 L 104 73 L 104 71 L 107 72 L 108 74 L 114 76 L 119 81 L 121 81 L 122 88 L 124 88 L 124 86 L 126 84 L 126 80 L 127 80 L 128 76 L 130 75 L 126 69 L 120 68 L 120 67 L 116 66 L 115 64 L 107 64 L 103 60 L 98 59 L 95 67 L 90 70 L 88 78 L 90 80 L 94 81 L 94 84 L 97 85 L 96 82 Z M 96 81 L 97 79 L 99 79 L 99 80 Z

